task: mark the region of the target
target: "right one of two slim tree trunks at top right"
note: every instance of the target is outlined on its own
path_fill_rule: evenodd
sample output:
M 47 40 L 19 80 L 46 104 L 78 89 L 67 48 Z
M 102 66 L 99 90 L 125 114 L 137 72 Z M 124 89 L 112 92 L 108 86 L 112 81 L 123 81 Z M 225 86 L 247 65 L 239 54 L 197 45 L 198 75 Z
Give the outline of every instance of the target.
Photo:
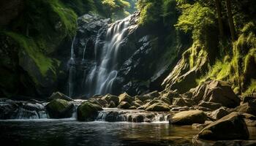
M 232 41 L 234 42 L 236 40 L 236 31 L 235 31 L 235 26 L 234 26 L 234 22 L 233 22 L 233 15 L 232 15 L 232 10 L 231 10 L 231 1 L 230 0 L 226 0 L 226 7 L 227 7 L 228 23 L 230 25 L 231 38 L 232 38 Z

